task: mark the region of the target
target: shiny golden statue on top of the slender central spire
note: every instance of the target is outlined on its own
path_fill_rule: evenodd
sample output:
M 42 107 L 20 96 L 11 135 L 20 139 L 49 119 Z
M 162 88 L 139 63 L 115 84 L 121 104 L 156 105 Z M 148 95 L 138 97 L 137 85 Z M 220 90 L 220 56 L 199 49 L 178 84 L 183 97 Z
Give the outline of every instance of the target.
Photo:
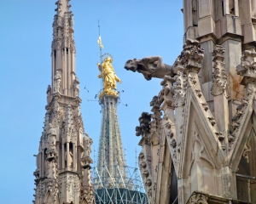
M 104 90 L 100 95 L 102 98 L 102 94 L 118 96 L 118 93 L 113 89 L 116 89 L 116 82 L 121 83 L 119 77 L 117 77 L 113 70 L 113 65 L 111 65 L 113 59 L 107 57 L 104 59 L 104 62 L 101 64 L 97 63 L 101 74 L 98 76 L 99 78 L 103 77 L 103 86 Z

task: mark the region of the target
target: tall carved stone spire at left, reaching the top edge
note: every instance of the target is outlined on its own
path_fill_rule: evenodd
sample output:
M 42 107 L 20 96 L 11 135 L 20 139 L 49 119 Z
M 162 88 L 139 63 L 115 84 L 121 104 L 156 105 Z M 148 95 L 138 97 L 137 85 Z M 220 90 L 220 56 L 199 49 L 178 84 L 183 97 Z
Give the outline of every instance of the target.
M 93 204 L 90 145 L 80 113 L 75 74 L 73 14 L 69 0 L 56 2 L 52 42 L 52 86 L 37 155 L 35 204 Z M 90 142 L 88 142 L 90 141 Z

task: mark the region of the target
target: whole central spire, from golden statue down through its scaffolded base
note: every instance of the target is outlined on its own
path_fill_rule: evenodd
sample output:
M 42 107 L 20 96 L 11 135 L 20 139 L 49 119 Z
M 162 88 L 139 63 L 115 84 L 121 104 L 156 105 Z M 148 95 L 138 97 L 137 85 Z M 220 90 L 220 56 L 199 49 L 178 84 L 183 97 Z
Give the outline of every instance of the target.
M 98 41 L 102 49 L 101 39 Z M 106 55 L 106 54 L 104 54 Z M 102 130 L 98 151 L 97 167 L 94 167 L 96 203 L 148 203 L 138 169 L 127 167 L 119 129 L 117 105 L 119 91 L 113 58 L 109 54 L 98 64 L 103 88 L 99 95 L 102 105 Z

